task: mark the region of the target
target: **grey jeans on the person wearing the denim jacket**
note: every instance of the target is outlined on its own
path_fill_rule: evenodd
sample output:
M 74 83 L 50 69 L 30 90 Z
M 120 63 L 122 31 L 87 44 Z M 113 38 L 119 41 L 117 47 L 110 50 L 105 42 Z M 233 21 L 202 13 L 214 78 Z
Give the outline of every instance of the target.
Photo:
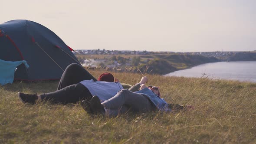
M 104 101 L 102 105 L 107 109 L 126 106 L 135 112 L 153 111 L 154 108 L 147 97 L 127 89 L 122 89 L 117 95 Z

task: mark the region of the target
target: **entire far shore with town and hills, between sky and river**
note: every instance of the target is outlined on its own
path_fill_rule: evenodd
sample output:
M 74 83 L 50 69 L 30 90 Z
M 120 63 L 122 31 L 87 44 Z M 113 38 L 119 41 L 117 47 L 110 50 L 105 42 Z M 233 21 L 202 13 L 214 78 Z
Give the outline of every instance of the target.
M 203 55 L 189 54 L 150 54 L 147 51 L 134 54 L 78 54 L 76 55 L 82 65 L 87 68 L 107 69 L 111 71 L 142 72 L 165 75 L 183 69 L 211 62 L 256 61 L 256 52 L 236 53 L 202 53 Z M 133 51 L 134 52 L 134 51 Z M 227 56 L 229 54 L 229 56 Z M 215 57 L 214 57 L 215 56 Z M 219 56 L 219 57 L 217 57 Z M 222 56 L 222 57 L 220 57 Z M 84 63 L 86 62 L 86 63 Z

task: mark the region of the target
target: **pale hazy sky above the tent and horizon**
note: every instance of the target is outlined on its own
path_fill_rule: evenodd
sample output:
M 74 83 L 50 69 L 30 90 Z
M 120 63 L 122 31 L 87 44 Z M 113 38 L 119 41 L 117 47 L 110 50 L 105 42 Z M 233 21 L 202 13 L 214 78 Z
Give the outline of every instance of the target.
M 256 50 L 256 0 L 3 0 L 0 23 L 32 20 L 72 49 Z

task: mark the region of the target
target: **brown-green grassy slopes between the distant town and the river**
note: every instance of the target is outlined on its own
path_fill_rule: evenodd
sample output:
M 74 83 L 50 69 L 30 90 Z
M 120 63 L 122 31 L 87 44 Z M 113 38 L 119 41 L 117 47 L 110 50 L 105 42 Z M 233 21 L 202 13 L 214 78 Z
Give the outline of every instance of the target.
M 200 65 L 209 62 L 219 62 L 220 60 L 214 57 L 205 57 L 199 55 L 187 55 L 187 54 L 151 54 L 151 55 L 76 55 L 80 62 L 85 59 L 102 59 L 104 62 L 92 63 L 92 65 L 98 65 L 101 68 L 104 67 L 108 69 L 108 66 L 104 65 L 115 65 L 117 61 L 120 65 L 115 65 L 113 70 L 119 69 L 121 71 L 136 72 L 140 69 L 141 72 L 146 72 L 149 74 L 159 74 L 164 75 L 170 72 L 174 72 L 181 69 L 187 69 L 192 66 Z M 120 58 L 119 60 L 117 58 Z M 139 60 L 137 65 L 133 63 L 131 59 L 138 57 Z M 125 59 L 125 60 L 124 60 Z M 102 65 L 100 65 L 102 64 Z

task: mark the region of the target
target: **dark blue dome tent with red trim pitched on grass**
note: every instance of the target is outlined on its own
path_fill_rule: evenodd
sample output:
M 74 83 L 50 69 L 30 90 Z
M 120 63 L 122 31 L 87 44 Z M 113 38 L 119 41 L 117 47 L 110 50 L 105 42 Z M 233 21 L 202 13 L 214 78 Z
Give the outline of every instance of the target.
M 25 64 L 17 66 L 14 79 L 28 81 L 60 79 L 69 64 L 80 64 L 59 36 L 30 20 L 0 24 L 0 59 L 25 60 L 29 68 Z

